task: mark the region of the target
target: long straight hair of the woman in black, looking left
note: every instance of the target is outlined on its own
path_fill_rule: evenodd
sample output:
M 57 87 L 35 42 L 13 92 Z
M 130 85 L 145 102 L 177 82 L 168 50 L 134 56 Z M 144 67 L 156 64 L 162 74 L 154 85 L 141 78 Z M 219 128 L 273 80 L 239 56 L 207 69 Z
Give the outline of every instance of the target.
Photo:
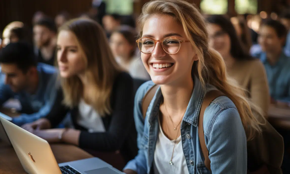
M 73 108 L 81 97 L 101 115 L 111 113 L 110 95 L 114 79 L 121 68 L 111 53 L 102 27 L 91 19 L 72 19 L 59 28 L 71 31 L 77 38 L 86 63 L 85 77 L 89 85 L 84 86 L 77 75 L 60 78 L 64 93 L 64 104 Z

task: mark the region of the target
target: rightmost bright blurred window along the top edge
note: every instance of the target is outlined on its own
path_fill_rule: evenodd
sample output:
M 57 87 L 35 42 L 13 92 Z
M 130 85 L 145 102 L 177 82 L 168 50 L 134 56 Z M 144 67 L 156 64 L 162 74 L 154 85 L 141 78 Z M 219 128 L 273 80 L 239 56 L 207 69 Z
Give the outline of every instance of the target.
M 257 8 L 257 0 L 235 0 L 235 10 L 238 14 L 256 14 Z

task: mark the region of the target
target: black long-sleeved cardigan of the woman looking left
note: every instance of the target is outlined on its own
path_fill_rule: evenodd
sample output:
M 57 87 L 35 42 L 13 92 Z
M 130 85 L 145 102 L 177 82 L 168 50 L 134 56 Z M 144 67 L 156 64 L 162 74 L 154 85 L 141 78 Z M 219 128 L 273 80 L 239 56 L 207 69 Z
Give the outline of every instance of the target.
M 133 118 L 133 79 L 129 74 L 122 72 L 115 78 L 110 98 L 112 113 L 102 117 L 106 132 L 89 133 L 76 122 L 78 107 L 70 109 L 62 104 L 62 100 L 63 92 L 59 89 L 55 103 L 46 118 L 52 127 L 56 127 L 70 112 L 75 128 L 81 130 L 80 148 L 97 151 L 120 150 L 127 161 L 137 155 L 137 133 Z

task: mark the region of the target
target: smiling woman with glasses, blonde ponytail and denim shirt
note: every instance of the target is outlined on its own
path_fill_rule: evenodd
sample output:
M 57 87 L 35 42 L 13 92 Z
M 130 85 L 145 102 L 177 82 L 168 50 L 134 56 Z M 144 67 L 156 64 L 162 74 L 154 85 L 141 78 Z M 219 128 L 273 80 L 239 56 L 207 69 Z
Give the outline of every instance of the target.
M 151 1 L 143 6 L 139 26 L 137 43 L 152 81 L 135 96 L 139 152 L 124 172 L 247 173 L 247 139 L 261 131 L 261 123 L 244 90 L 227 77 L 223 58 L 209 48 L 199 10 L 182 0 Z M 144 120 L 142 100 L 154 84 L 160 87 Z M 210 160 L 206 168 L 197 130 L 201 104 L 210 90 L 225 96 L 213 100 L 204 112 Z

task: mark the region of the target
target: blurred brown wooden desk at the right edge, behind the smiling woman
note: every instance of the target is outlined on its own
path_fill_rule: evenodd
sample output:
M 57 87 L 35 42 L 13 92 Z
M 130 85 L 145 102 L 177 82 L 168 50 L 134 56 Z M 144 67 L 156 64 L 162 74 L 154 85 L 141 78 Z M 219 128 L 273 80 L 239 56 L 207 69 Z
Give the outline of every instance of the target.
M 290 129 L 290 108 L 279 108 L 271 105 L 268 120 L 274 127 Z

